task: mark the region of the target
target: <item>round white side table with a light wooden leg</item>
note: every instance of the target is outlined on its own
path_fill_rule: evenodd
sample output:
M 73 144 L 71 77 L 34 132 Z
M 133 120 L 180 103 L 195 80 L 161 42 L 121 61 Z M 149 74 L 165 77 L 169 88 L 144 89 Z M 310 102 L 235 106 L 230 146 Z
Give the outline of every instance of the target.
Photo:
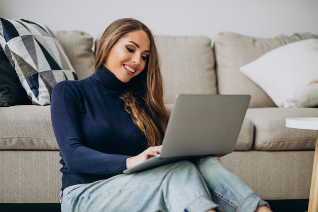
M 309 195 L 308 212 L 318 211 L 318 117 L 310 118 L 286 118 L 286 127 L 317 130 L 316 145 L 313 159 L 311 186 Z

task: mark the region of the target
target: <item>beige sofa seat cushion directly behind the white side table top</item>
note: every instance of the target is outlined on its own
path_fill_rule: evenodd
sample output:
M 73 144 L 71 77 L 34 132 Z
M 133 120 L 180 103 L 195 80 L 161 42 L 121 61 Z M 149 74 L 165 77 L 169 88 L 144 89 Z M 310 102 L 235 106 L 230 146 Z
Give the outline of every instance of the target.
M 318 117 L 318 108 L 249 108 L 255 150 L 313 150 L 317 132 L 285 127 L 289 117 Z

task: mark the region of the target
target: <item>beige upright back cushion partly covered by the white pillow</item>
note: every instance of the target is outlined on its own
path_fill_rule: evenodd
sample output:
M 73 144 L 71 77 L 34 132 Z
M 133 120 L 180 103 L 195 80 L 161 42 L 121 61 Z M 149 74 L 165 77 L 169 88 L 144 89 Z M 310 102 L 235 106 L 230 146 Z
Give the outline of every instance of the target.
M 221 32 L 214 38 L 219 94 L 250 94 L 249 107 L 276 107 L 271 98 L 239 71 L 239 67 L 281 46 L 276 38 L 256 38 Z

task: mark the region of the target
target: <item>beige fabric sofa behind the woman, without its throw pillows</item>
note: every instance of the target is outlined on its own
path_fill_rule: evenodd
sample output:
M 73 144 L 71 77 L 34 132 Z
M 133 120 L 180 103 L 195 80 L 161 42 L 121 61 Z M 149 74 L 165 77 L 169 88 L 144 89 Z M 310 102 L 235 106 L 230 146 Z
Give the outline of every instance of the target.
M 93 37 L 54 33 L 78 77 L 91 75 Z M 318 117 L 318 109 L 278 108 L 239 71 L 282 44 L 235 33 L 219 33 L 213 41 L 157 36 L 167 107 L 179 93 L 250 94 L 235 152 L 222 160 L 263 199 L 308 199 L 316 132 L 286 128 L 285 118 Z M 61 165 L 50 106 L 0 107 L 0 117 L 0 203 L 58 203 Z

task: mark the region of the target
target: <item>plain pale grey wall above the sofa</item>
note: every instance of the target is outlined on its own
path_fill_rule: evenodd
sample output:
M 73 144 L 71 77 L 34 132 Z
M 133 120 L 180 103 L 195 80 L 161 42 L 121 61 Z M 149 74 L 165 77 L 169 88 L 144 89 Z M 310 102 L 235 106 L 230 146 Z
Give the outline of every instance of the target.
M 318 0 L 0 0 L 0 17 L 41 21 L 52 30 L 96 36 L 122 17 L 154 34 L 206 35 L 219 31 L 275 37 L 318 33 Z

